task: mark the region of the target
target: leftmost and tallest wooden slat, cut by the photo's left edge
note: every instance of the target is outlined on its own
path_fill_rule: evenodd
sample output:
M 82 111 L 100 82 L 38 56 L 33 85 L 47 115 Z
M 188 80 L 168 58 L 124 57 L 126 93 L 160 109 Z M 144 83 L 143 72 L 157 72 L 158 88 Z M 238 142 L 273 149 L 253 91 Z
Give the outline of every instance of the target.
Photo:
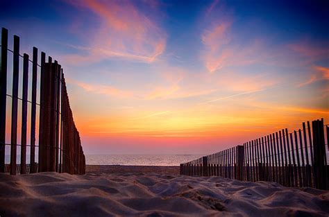
M 7 102 L 7 60 L 8 30 L 1 30 L 1 68 L 0 68 L 0 173 L 5 172 L 6 150 L 6 102 Z

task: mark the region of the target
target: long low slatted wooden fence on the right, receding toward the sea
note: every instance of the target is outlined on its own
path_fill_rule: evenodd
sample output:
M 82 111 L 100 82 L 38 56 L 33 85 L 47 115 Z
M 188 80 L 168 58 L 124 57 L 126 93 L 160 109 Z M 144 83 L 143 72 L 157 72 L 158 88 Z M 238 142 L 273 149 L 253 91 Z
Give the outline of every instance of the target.
M 307 121 L 298 131 L 288 133 L 286 128 L 180 164 L 180 174 L 329 189 L 328 141 L 329 127 L 323 119 L 312 121 L 312 128 Z

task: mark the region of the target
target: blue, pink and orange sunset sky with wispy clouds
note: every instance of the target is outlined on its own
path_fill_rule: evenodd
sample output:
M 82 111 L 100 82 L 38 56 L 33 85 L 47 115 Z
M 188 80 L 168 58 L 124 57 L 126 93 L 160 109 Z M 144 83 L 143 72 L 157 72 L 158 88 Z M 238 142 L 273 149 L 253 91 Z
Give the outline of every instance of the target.
M 1 1 L 86 154 L 208 154 L 329 119 L 328 1 Z M 12 40 L 9 42 L 12 47 Z

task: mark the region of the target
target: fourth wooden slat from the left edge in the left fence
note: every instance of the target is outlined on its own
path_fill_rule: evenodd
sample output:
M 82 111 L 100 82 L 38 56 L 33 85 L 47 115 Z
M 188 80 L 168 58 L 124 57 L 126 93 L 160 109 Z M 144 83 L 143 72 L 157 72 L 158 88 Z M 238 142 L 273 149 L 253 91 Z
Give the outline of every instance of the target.
M 37 111 L 37 48 L 33 47 L 32 60 L 32 101 L 31 101 L 31 149 L 30 149 L 30 173 L 36 172 L 35 165 L 35 119 Z

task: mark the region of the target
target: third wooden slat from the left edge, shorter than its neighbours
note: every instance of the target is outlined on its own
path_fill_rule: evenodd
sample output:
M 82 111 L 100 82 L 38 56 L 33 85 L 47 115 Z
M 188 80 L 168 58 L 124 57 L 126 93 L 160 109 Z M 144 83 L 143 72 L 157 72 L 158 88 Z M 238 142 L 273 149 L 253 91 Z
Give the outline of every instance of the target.
M 23 93 L 22 93 L 22 132 L 21 132 L 21 174 L 26 173 L 26 134 L 27 134 L 27 94 L 28 94 L 28 55 L 23 60 Z

